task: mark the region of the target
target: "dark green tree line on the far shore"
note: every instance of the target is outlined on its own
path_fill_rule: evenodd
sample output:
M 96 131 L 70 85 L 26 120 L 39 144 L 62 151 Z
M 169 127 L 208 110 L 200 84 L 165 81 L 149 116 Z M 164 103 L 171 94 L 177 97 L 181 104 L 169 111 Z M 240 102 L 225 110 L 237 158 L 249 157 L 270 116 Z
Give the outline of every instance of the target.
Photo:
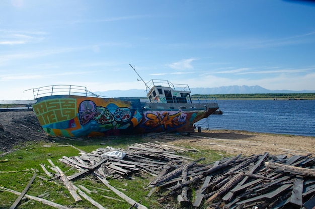
M 196 98 L 217 99 L 315 99 L 315 93 L 266 93 L 266 94 L 194 94 Z

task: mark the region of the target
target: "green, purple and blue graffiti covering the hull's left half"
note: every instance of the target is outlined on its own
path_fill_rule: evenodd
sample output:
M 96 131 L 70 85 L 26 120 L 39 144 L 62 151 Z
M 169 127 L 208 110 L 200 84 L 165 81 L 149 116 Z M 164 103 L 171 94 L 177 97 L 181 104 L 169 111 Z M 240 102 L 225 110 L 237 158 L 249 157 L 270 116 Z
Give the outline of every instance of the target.
M 142 115 L 130 103 L 83 100 L 76 105 L 72 98 L 56 98 L 33 106 L 43 129 L 51 135 L 104 135 L 107 131 L 131 131 Z M 104 105 L 102 105 L 104 104 Z M 118 133 L 117 132 L 117 133 Z

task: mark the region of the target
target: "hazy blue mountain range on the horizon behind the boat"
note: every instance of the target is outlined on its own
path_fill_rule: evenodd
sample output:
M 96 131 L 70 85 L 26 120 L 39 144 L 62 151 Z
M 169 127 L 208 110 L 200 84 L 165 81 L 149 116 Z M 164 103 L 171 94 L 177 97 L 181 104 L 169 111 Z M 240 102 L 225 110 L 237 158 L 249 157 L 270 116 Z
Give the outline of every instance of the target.
M 311 90 L 268 90 L 260 86 L 222 86 L 214 88 L 190 88 L 191 95 L 194 94 L 266 94 L 266 93 L 314 93 Z M 107 97 L 146 97 L 144 89 L 130 90 L 109 90 L 94 92 L 95 94 Z

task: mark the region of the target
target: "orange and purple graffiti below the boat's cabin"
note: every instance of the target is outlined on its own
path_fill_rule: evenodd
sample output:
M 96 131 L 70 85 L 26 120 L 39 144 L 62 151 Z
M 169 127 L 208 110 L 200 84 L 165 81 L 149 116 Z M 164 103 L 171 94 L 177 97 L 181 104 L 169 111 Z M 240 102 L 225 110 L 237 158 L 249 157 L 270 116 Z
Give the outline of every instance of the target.
M 146 121 L 143 125 L 146 129 L 163 127 L 164 130 L 178 128 L 186 123 L 186 113 L 180 111 L 158 111 L 145 113 Z

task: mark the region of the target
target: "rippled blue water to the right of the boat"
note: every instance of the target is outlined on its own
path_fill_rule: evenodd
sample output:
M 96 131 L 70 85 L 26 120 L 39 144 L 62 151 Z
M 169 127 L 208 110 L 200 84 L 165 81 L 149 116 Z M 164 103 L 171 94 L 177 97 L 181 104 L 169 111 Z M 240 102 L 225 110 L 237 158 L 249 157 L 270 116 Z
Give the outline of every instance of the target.
M 196 123 L 209 129 L 315 136 L 315 100 L 217 100 L 222 115 Z

